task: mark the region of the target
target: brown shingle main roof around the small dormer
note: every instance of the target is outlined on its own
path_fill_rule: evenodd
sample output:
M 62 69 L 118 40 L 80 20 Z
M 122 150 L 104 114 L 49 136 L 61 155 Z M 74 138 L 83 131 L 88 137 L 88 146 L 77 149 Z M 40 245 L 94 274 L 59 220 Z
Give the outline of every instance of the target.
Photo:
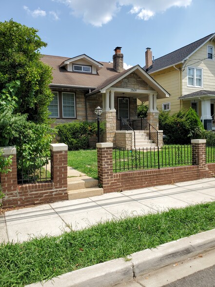
M 42 55 L 41 61 L 53 68 L 53 84 L 97 88 L 102 82 L 119 74 L 113 69 L 113 63 L 108 62 L 100 62 L 103 64 L 103 68 L 97 74 L 75 73 L 67 71 L 64 67 L 59 68 L 62 62 L 69 59 L 66 57 Z

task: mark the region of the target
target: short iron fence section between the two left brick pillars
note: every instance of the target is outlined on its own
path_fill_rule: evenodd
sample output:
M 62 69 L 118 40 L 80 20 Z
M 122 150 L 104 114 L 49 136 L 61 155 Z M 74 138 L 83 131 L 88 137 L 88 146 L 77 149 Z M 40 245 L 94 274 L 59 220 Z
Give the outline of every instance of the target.
M 50 156 L 17 159 L 18 184 L 51 180 Z

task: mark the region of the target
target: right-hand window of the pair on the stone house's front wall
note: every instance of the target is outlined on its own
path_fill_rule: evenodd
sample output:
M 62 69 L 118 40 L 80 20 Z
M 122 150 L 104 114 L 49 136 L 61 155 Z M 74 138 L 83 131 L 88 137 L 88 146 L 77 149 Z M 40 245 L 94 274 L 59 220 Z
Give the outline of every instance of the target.
M 63 110 L 63 118 L 76 117 L 74 93 L 62 93 L 62 110 Z

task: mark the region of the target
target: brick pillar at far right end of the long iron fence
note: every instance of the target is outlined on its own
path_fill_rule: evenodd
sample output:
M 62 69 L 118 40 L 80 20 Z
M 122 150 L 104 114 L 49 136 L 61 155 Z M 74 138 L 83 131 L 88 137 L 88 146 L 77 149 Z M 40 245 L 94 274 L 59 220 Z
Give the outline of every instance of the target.
M 192 164 L 206 168 L 206 140 L 191 140 Z

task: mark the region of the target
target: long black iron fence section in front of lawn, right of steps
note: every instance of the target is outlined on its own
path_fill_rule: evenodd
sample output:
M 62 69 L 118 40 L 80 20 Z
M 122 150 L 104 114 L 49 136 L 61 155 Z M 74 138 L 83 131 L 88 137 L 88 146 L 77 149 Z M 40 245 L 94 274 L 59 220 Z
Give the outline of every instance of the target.
M 114 172 L 181 165 L 192 165 L 191 145 L 113 150 Z

